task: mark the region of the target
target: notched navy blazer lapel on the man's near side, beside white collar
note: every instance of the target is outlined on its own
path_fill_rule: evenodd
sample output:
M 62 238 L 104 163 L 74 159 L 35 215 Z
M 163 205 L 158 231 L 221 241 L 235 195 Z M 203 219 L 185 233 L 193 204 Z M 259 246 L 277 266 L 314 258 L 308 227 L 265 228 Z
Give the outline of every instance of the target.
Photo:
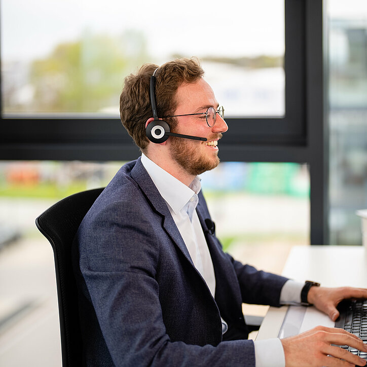
M 162 198 L 158 189 L 154 185 L 151 176 L 146 172 L 141 163 L 140 157 L 137 159 L 134 168 L 131 170 L 131 177 L 135 180 L 146 198 L 151 202 L 152 206 L 163 217 L 163 228 L 171 237 L 172 241 L 177 245 L 181 252 L 185 255 L 190 264 L 194 267 L 190 253 L 183 242 L 181 234 L 178 231 L 176 224 L 173 221 L 172 215 L 169 212 L 166 202 Z

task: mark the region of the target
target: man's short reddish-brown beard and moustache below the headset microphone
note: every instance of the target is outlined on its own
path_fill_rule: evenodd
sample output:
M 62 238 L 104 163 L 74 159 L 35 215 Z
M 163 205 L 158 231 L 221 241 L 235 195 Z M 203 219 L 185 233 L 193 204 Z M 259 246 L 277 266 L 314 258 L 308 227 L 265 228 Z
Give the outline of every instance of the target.
M 221 138 L 222 134 L 216 135 L 208 141 Z M 219 164 L 217 153 L 203 152 L 202 146 L 192 140 L 171 136 L 170 156 L 183 169 L 192 175 L 198 175 L 210 171 Z

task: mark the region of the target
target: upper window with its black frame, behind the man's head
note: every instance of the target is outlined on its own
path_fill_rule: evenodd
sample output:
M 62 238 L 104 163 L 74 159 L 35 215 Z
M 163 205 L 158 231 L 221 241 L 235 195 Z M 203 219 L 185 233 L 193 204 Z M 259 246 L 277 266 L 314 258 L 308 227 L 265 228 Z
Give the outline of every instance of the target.
M 158 63 L 166 61 L 158 57 L 152 60 L 151 55 L 156 52 L 154 51 L 156 49 L 162 52 L 161 44 L 169 44 L 170 56 L 177 56 L 176 53 L 187 56 L 198 53 L 199 57 L 205 59 L 203 62 L 206 63 L 204 67 L 207 68 L 207 77 L 211 79 L 209 82 L 213 85 L 217 98 L 224 99 L 221 101 L 224 105 L 226 100 L 228 101 L 226 114 L 229 116 L 227 120 L 231 128 L 226 134 L 227 148 L 223 156 L 224 160 L 233 160 L 231 158 L 233 156 L 243 161 L 263 160 L 254 155 L 252 148 L 256 151 L 261 146 L 267 145 L 272 147 L 272 159 L 277 161 L 289 161 L 287 154 L 289 147 L 297 146 L 301 149 L 298 149 L 293 156 L 298 162 L 306 162 L 308 118 L 306 108 L 308 106 L 305 103 L 305 94 L 311 89 L 306 90 L 305 87 L 308 75 L 305 70 L 307 46 L 305 37 L 307 27 L 316 29 L 311 23 L 318 19 L 315 15 L 319 9 L 316 5 L 308 5 L 309 9 L 306 11 L 307 0 L 300 2 L 293 0 L 265 2 L 263 0 L 255 3 L 247 1 L 239 5 L 235 2 L 233 4 L 227 2 L 221 4 L 218 10 L 215 7 L 213 9 L 211 3 L 207 7 L 204 6 L 206 3 L 203 3 L 204 5 L 195 3 L 192 8 L 197 9 L 198 12 L 187 10 L 191 4 L 188 3 L 185 9 L 179 11 L 182 13 L 182 18 L 179 18 L 178 22 L 177 12 L 169 11 L 171 3 L 169 7 L 159 7 L 156 3 L 145 5 L 133 2 L 134 5 L 126 6 L 137 4 L 139 8 L 136 14 L 138 15 L 135 16 L 133 13 L 134 16 L 129 17 L 125 4 L 118 3 L 124 7 L 121 9 L 112 0 L 104 2 L 103 6 L 92 2 L 43 1 L 43 14 L 49 15 L 42 15 L 43 18 L 37 22 L 39 12 L 36 11 L 38 7 L 35 5 L 30 6 L 21 0 L 14 2 L 3 0 L 1 14 L 3 133 L 0 136 L 0 158 L 61 160 L 135 158 L 138 150 L 126 131 L 121 128 L 119 118 L 116 117 L 118 110 L 116 98 L 121 90 L 123 75 L 143 61 Z M 237 11 L 233 12 L 234 9 Z M 266 9 L 266 15 L 263 14 L 264 9 Z M 252 11 L 260 13 L 252 13 Z M 231 14 L 231 17 L 228 14 Z M 268 14 L 271 15 L 269 18 Z M 213 28 L 216 32 L 213 40 L 212 34 L 208 33 L 208 29 L 212 29 L 207 25 L 208 16 L 209 19 L 214 19 L 214 22 L 218 23 Z M 103 23 L 98 23 L 99 18 L 103 18 Z M 251 18 L 258 19 L 259 26 L 253 24 Z M 275 22 L 273 18 L 277 21 Z M 17 21 L 12 22 L 12 19 Z M 28 24 L 27 19 L 31 20 L 31 25 L 25 27 L 25 31 L 22 27 L 15 29 L 11 26 L 13 23 Z M 282 24 L 283 20 L 284 24 Z M 45 36 L 42 42 L 34 42 L 39 39 L 34 33 L 34 29 L 39 27 L 38 23 L 43 27 L 41 32 Z M 108 30 L 110 26 L 107 27 L 106 23 L 112 24 L 113 29 Z M 248 25 L 250 29 L 247 28 Z M 201 39 L 196 36 L 192 39 L 191 29 L 199 29 L 198 33 L 203 32 L 205 37 Z M 228 30 L 233 32 L 228 35 Z M 162 33 L 157 35 L 156 32 Z M 145 44 L 143 41 L 145 33 L 154 35 L 154 42 L 151 43 L 149 39 Z M 191 38 L 190 48 L 185 48 L 185 44 L 181 45 L 182 33 L 185 33 L 187 38 Z M 10 38 L 7 38 L 10 34 L 17 35 L 17 40 L 10 42 Z M 228 35 L 225 40 L 223 34 Z M 269 46 L 264 40 L 273 37 L 274 34 L 275 38 Z M 175 39 L 173 39 L 174 35 L 177 35 Z M 148 39 L 148 36 L 146 38 Z M 253 40 L 259 40 L 256 42 L 261 47 L 257 51 L 254 47 L 256 42 Z M 96 42 L 97 49 L 92 47 L 93 42 Z M 41 67 L 48 70 L 45 78 L 38 79 L 38 92 L 35 92 L 34 86 L 25 82 L 29 74 L 29 64 L 32 64 L 29 61 L 36 56 L 32 55 L 28 60 L 20 60 L 20 63 L 28 62 L 28 66 L 21 65 L 22 72 L 12 71 L 17 70 L 16 62 L 13 63 L 13 61 L 19 60 L 19 50 L 32 49 L 29 45 L 34 45 L 34 50 L 39 55 L 37 59 L 40 62 L 33 63 L 33 66 L 36 66 L 35 69 L 39 70 L 38 67 Z M 60 47 L 58 48 L 57 45 Z M 71 47 L 72 50 L 68 47 L 70 45 L 74 45 L 74 48 Z M 207 51 L 206 45 L 210 45 L 210 52 Z M 13 49 L 16 46 L 18 53 Z M 178 49 L 178 46 L 181 48 Z M 313 45 L 307 47 L 309 51 Z M 122 49 L 130 55 L 129 60 L 121 59 Z M 30 53 L 30 51 L 27 52 Z M 53 53 L 57 55 L 69 53 L 74 59 L 64 57 L 60 67 L 52 57 L 49 59 Z M 267 57 L 263 57 L 264 53 Z M 231 60 L 224 59 L 224 54 Z M 160 56 L 163 57 L 163 55 Z M 105 69 L 96 66 L 99 59 L 106 63 Z M 267 67 L 252 68 L 259 65 Z M 116 76 L 115 71 L 120 66 L 123 66 L 125 71 L 118 72 Z M 55 68 L 68 70 L 67 75 L 54 73 Z M 78 72 L 75 74 L 78 69 L 89 70 L 89 72 L 81 78 L 81 74 L 79 76 Z M 246 74 L 250 70 L 259 82 L 255 83 L 253 77 Z M 265 81 L 267 90 L 260 85 L 263 83 L 260 83 L 261 80 Z M 102 87 L 94 85 L 98 81 L 102 81 Z M 253 87 L 257 88 L 257 84 L 260 89 L 256 89 L 253 93 L 248 89 L 246 91 L 246 88 L 251 90 Z M 71 88 L 66 88 L 65 85 L 71 85 Z M 54 87 L 59 93 L 57 98 L 55 97 L 57 93 L 52 89 Z M 86 100 L 81 97 L 81 90 L 88 96 Z M 106 98 L 102 96 L 105 92 Z M 37 98 L 34 98 L 35 104 L 46 100 L 48 106 L 36 108 L 33 105 L 28 108 L 26 105 L 31 105 L 34 95 L 37 95 Z M 108 97 L 111 95 L 113 97 Z M 61 108 L 53 103 L 54 100 L 62 101 L 67 108 L 63 108 L 62 113 L 51 114 L 51 111 L 61 111 Z M 93 100 L 95 102 L 92 103 L 92 108 L 90 101 Z M 259 100 L 266 102 L 260 105 Z M 76 105 L 82 107 L 77 108 Z M 24 113 L 15 112 L 20 110 Z M 84 112 L 71 113 L 76 110 Z M 33 113 L 30 113 L 31 111 Z M 48 112 L 40 114 L 35 111 Z M 99 113 L 91 111 L 99 111 Z M 250 151 L 247 147 L 250 147 Z M 239 152 L 240 156 L 238 156 Z M 259 153 L 262 155 L 262 152 Z

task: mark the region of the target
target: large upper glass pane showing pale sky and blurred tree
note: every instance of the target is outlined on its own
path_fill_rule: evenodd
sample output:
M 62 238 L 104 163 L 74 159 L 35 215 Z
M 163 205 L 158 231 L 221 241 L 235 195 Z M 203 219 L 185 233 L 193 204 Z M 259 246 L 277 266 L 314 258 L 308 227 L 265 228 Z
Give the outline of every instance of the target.
M 5 113 L 119 116 L 127 74 L 144 62 L 197 56 L 227 117 L 284 115 L 284 0 L 219 7 L 1 0 L 1 7 Z

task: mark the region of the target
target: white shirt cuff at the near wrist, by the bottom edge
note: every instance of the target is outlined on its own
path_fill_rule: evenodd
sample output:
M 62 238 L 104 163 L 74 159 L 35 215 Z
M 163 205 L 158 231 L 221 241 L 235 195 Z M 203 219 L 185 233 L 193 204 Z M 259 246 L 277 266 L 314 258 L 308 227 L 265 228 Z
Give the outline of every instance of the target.
M 285 367 L 282 342 L 279 338 L 255 340 L 255 367 Z

